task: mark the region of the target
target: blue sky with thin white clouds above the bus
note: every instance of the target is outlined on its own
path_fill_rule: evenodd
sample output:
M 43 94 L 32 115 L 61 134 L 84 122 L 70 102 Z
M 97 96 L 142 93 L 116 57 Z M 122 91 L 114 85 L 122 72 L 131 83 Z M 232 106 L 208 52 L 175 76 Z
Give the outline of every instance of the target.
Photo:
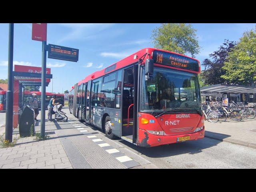
M 105 68 L 146 48 L 151 43 L 152 30 L 160 24 L 48 24 L 47 43 L 79 49 L 79 61 L 48 59 L 53 74 L 54 92 L 70 90 L 88 74 Z M 243 32 L 256 24 L 192 24 L 197 29 L 201 49 L 196 56 L 202 63 L 224 42 L 238 41 Z M 14 24 L 14 64 L 41 66 L 42 42 L 34 41 L 32 24 Z M 8 24 L 0 24 L 0 79 L 7 78 Z M 52 92 L 52 82 L 46 87 Z

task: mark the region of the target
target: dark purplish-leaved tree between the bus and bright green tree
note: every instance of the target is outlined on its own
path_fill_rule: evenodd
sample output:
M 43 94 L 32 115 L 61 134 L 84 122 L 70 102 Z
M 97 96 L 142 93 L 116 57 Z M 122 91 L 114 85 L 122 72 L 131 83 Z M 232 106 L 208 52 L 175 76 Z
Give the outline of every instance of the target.
M 228 53 L 234 48 L 236 42 L 224 40 L 223 45 L 221 45 L 218 50 L 209 54 L 211 59 L 205 59 L 202 62 L 202 66 L 205 67 L 205 70 L 202 72 L 201 76 L 204 82 L 208 85 L 220 84 L 220 83 L 228 83 L 228 81 L 221 76 L 225 74 L 224 62 L 227 61 Z

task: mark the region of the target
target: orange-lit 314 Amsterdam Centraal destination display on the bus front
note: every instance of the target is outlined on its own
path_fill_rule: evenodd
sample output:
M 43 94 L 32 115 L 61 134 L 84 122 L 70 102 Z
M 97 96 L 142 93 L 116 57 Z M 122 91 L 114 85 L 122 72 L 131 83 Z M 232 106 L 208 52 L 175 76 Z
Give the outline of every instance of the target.
M 154 51 L 154 63 L 199 72 L 198 62 L 178 54 Z

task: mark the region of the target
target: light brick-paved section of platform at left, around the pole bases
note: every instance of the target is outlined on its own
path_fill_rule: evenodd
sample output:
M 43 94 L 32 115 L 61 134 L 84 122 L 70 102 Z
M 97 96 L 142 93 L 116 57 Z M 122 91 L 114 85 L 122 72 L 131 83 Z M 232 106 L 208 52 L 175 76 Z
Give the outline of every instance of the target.
M 19 136 L 16 133 L 18 132 L 14 129 L 13 138 Z M 60 139 L 56 134 L 49 136 L 50 138 L 44 141 L 36 141 L 35 137 L 20 138 L 16 146 L 0 148 L 0 168 L 72 168 Z

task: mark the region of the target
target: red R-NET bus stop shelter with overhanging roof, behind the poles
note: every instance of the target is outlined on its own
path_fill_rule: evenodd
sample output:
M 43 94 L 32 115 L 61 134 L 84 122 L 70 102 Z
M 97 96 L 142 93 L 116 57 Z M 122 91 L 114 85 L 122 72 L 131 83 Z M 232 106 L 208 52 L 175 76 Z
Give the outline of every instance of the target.
M 41 86 L 41 67 L 14 65 L 13 72 L 13 128 L 18 127 L 19 115 L 24 108 L 23 96 L 25 86 Z M 52 74 L 46 68 L 46 86 L 49 85 Z

